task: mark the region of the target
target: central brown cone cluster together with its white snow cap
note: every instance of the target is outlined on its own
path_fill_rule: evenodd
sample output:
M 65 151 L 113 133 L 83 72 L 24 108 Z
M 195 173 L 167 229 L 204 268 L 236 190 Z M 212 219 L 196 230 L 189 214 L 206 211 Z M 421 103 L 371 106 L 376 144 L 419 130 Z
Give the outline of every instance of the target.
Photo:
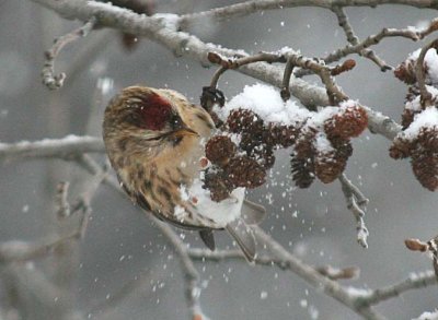
M 212 166 L 204 187 L 215 201 L 226 199 L 238 187 L 262 186 L 266 170 L 274 165 L 274 151 L 280 147 L 292 147 L 291 173 L 299 188 L 310 187 L 315 177 L 330 183 L 342 175 L 351 155 L 349 140 L 368 125 L 366 110 L 356 102 L 313 112 L 284 103 L 278 91 L 262 85 L 245 87 L 243 94 L 214 111 L 223 126 L 220 135 L 206 144 Z

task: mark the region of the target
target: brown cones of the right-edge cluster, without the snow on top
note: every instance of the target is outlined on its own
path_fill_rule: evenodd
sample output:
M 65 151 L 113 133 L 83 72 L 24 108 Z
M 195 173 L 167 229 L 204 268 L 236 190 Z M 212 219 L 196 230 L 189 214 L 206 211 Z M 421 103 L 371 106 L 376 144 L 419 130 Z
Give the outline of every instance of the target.
M 410 58 L 394 71 L 395 76 L 408 84 L 410 87 L 402 114 L 403 132 L 394 139 L 390 147 L 390 156 L 395 159 L 411 158 L 415 177 L 423 187 L 435 191 L 438 189 L 438 127 L 420 127 L 414 138 L 406 138 L 404 134 L 406 130 L 410 130 L 411 126 L 416 126 L 413 125 L 416 116 L 424 112 L 426 108 L 438 107 L 438 98 L 434 95 L 429 105 L 420 102 L 422 97 L 415 74 L 416 62 L 416 59 Z M 423 72 L 426 84 L 434 85 L 434 76 L 429 74 L 430 68 L 426 60 L 423 64 Z

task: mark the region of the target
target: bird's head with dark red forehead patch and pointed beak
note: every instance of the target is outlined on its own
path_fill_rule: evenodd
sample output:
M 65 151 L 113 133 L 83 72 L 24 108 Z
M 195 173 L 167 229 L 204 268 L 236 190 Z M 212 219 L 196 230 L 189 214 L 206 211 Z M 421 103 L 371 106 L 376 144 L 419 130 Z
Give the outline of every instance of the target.
M 184 96 L 171 91 L 124 88 L 110 102 L 104 116 L 103 137 L 112 163 L 116 155 L 154 157 L 185 138 L 198 138 L 187 123 L 184 110 L 188 106 Z

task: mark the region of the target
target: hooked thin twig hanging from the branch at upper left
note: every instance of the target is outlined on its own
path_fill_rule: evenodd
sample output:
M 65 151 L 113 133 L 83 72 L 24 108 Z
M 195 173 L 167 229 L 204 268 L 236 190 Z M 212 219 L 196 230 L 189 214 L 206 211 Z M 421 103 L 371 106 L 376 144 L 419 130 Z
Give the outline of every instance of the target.
M 42 70 L 42 78 L 43 78 L 43 83 L 49 90 L 60 88 L 64 84 L 64 81 L 66 80 L 66 73 L 64 72 L 59 73 L 58 75 L 54 74 L 55 59 L 58 57 L 60 50 L 67 44 L 72 43 L 81 37 L 85 37 L 93 29 L 95 24 L 96 24 L 96 19 L 95 17 L 90 19 L 81 27 L 73 29 L 72 32 L 64 36 L 60 36 L 59 38 L 56 38 L 51 48 L 45 52 L 46 61 Z

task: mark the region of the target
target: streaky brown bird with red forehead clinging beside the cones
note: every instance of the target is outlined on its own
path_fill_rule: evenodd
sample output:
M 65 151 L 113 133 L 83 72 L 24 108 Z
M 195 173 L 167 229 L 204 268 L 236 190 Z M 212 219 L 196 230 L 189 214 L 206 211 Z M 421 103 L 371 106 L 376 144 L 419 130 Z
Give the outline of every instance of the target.
M 233 190 L 215 202 L 201 180 L 205 143 L 217 132 L 210 115 L 181 93 L 128 86 L 108 103 L 103 140 L 122 188 L 134 203 L 161 221 L 199 232 L 215 250 L 215 230 L 226 229 L 247 261 L 256 257 L 252 225 L 265 216 L 262 205 Z

